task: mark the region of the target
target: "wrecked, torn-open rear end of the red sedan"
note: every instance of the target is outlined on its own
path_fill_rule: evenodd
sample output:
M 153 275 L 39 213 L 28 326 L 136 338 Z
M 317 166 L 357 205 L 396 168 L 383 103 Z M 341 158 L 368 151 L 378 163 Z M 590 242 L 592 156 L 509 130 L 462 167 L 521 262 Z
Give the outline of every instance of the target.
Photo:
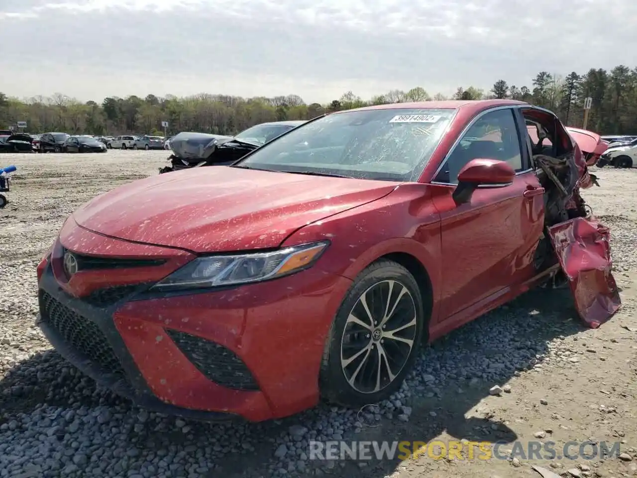
M 605 143 L 590 131 L 567 131 L 543 110 L 529 108 L 524 117 L 536 174 L 545 188 L 545 236 L 552 256 L 546 260 L 557 257 L 578 314 L 587 326 L 597 328 L 621 305 L 612 275 L 610 231 L 593 217 L 580 194 L 599 185 L 587 164 L 597 161 Z

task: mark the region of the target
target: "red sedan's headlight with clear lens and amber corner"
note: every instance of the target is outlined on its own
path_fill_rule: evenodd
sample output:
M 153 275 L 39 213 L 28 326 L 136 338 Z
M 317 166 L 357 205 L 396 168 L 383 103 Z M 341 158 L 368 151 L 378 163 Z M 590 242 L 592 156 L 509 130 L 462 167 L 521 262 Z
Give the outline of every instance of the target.
M 283 277 L 310 267 L 327 245 L 328 242 L 314 242 L 271 252 L 198 257 L 151 290 L 234 286 Z

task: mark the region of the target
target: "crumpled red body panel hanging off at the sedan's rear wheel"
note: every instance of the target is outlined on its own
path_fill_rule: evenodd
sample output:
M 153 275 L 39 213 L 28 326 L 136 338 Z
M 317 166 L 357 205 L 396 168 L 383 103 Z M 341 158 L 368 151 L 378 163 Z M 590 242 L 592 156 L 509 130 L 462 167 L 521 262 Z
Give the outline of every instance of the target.
M 578 314 L 587 326 L 598 328 L 622 303 L 611 272 L 609 229 L 594 218 L 576 217 L 548 231 Z

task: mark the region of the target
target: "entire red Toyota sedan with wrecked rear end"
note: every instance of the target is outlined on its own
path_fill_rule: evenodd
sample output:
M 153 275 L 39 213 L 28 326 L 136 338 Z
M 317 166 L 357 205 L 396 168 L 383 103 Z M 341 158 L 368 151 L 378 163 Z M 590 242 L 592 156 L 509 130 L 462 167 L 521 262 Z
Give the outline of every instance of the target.
M 555 115 L 526 103 L 332 113 L 232 166 L 82 206 L 38 266 L 38 323 L 160 412 L 359 407 L 396 391 L 419 345 L 556 275 L 589 326 L 606 321 L 608 231 L 579 193 L 594 180 Z

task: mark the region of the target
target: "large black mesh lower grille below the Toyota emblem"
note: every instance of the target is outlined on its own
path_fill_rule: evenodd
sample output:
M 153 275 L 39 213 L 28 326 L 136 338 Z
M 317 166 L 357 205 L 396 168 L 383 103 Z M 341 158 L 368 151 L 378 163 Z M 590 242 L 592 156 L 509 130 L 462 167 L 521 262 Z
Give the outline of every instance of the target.
M 39 291 L 39 302 L 43 321 L 66 344 L 99 366 L 103 372 L 125 378 L 124 368 L 113 347 L 94 322 L 65 307 L 45 291 Z

